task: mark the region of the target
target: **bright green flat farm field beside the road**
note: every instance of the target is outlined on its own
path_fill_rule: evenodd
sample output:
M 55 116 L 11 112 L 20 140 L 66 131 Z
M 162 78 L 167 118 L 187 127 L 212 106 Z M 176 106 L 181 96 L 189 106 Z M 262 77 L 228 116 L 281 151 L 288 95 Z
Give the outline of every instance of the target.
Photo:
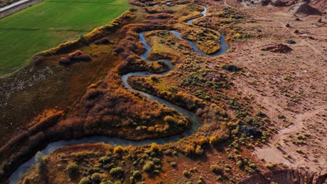
M 0 19 L 0 77 L 45 49 L 78 38 L 128 10 L 128 0 L 45 0 Z

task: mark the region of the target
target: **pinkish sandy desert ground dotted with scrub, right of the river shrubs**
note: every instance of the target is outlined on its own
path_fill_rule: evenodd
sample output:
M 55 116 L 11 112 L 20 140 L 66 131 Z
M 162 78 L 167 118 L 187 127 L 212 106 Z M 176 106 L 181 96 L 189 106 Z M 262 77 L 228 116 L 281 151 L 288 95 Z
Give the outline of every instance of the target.
M 241 6 L 233 0 L 224 3 L 238 9 Z M 251 15 L 251 21 L 242 25 L 251 38 L 236 44 L 235 52 L 226 59 L 245 68 L 245 75 L 237 77 L 234 84 L 244 96 L 256 100 L 257 109 L 267 114 L 277 130 L 254 154 L 266 162 L 326 173 L 326 15 L 319 23 L 320 15 L 296 21 L 285 7 L 243 6 L 240 10 Z M 277 43 L 289 45 L 293 51 L 261 51 Z M 302 144 L 297 143 L 300 140 Z

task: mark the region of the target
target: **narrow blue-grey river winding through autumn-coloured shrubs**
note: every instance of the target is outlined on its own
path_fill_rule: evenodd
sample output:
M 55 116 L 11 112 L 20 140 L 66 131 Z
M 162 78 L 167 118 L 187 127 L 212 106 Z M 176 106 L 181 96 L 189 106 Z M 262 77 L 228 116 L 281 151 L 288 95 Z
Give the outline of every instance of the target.
M 204 7 L 204 10 L 202 13 L 203 16 L 206 15 L 207 13 L 207 8 Z M 192 20 L 188 20 L 187 23 L 191 24 L 195 19 Z M 140 33 L 140 41 L 143 43 L 143 45 L 146 48 L 146 51 L 140 55 L 140 57 L 142 59 L 144 59 L 147 62 L 152 62 L 150 60 L 147 59 L 147 55 L 149 54 L 150 50 L 151 50 L 151 46 L 147 44 L 145 38 L 144 38 L 144 34 L 147 33 L 149 31 L 144 31 Z M 171 33 L 173 33 L 175 36 L 177 36 L 177 38 L 181 39 L 181 40 L 185 40 L 184 38 L 182 38 L 180 36 L 180 33 L 177 31 L 170 31 Z M 187 43 L 189 43 L 189 45 L 191 45 L 191 47 L 193 48 L 194 52 L 196 52 L 197 54 L 200 54 L 201 56 L 205 56 L 205 57 L 210 57 L 210 56 L 218 56 L 221 54 L 224 54 L 227 52 L 227 50 L 229 49 L 229 45 L 225 42 L 225 37 L 224 36 L 220 36 L 220 46 L 221 49 L 216 52 L 215 54 L 212 55 L 208 55 L 205 54 L 203 52 L 201 52 L 200 49 L 198 49 L 198 47 L 196 46 L 195 43 L 189 41 L 189 40 L 185 40 L 187 41 Z M 149 75 L 166 75 L 167 72 L 169 72 L 170 70 L 173 70 L 174 66 L 170 63 L 170 60 L 168 59 L 161 59 L 161 61 L 164 61 L 166 63 L 166 65 L 168 66 L 168 70 L 166 72 L 162 72 L 160 74 L 153 74 L 151 72 L 131 72 L 128 73 L 126 75 L 122 75 L 122 81 L 124 83 L 124 86 L 126 87 L 126 89 L 129 89 L 131 91 L 137 91 L 135 89 L 133 89 L 127 82 L 127 79 L 133 75 L 142 75 L 142 76 L 149 76 Z M 108 137 L 108 136 L 92 136 L 92 137 L 84 137 L 82 139 L 71 139 L 71 140 L 62 140 L 62 141 L 54 141 L 50 144 L 48 144 L 48 146 L 46 146 L 41 153 L 43 155 L 48 155 L 50 153 L 52 153 L 52 151 L 56 150 L 57 148 L 63 147 L 63 146 L 67 146 L 67 145 L 72 145 L 72 144 L 86 144 L 86 143 L 105 143 L 105 144 L 111 144 L 112 146 L 143 146 L 143 145 L 147 145 L 147 144 L 152 144 L 152 143 L 157 143 L 157 144 L 167 144 L 169 142 L 174 142 L 174 141 L 178 141 L 180 140 L 182 137 L 187 137 L 189 135 L 194 134 L 198 128 L 202 125 L 202 121 L 200 118 L 198 118 L 196 116 L 196 114 L 194 114 L 193 112 L 189 112 L 186 109 L 183 109 L 181 107 L 178 107 L 177 105 L 173 105 L 172 103 L 163 100 L 161 98 L 158 98 L 154 95 L 150 95 L 148 93 L 145 93 L 143 91 L 137 91 L 138 93 L 144 95 L 145 97 L 147 97 L 149 100 L 155 100 L 157 102 L 159 102 L 162 105 L 166 105 L 167 107 L 173 108 L 175 109 L 177 112 L 179 112 L 180 114 L 182 114 L 183 116 L 186 116 L 187 118 L 189 118 L 189 121 L 191 121 L 191 128 L 189 128 L 187 131 L 182 132 L 179 135 L 172 135 L 169 137 L 164 137 L 164 138 L 160 138 L 160 139 L 151 139 L 151 140 L 143 140 L 143 141 L 129 141 L 129 140 L 125 140 L 125 139 L 119 139 L 117 137 Z M 31 168 L 34 164 L 36 164 L 36 158 L 35 155 L 34 157 L 30 158 L 27 162 L 24 162 L 24 164 L 20 165 L 20 167 L 18 167 L 13 174 L 11 174 L 10 178 L 8 179 L 8 182 L 10 184 L 15 184 L 18 183 L 20 181 L 20 179 L 22 178 L 22 176 L 24 175 L 24 173 L 26 173 L 29 168 Z

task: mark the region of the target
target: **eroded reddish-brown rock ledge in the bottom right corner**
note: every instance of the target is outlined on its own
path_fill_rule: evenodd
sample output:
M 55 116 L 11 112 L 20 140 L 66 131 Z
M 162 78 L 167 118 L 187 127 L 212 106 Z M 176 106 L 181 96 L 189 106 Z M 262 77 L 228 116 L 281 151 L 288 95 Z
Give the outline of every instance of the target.
M 327 174 L 316 174 L 309 171 L 298 171 L 296 169 L 280 169 L 265 174 L 256 174 L 245 178 L 238 184 L 269 184 L 269 183 L 297 183 L 297 184 L 324 184 Z

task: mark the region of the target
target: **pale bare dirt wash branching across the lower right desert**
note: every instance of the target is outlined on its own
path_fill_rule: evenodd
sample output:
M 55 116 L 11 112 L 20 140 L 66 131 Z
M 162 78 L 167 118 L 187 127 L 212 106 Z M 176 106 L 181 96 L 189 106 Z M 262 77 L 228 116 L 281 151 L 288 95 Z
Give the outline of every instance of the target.
M 317 161 L 312 162 L 314 161 L 314 158 L 308 150 L 316 148 L 312 148 L 311 146 L 300 146 L 300 148 L 298 148 L 298 146 L 283 142 L 283 140 L 288 139 L 289 135 L 293 134 L 294 132 L 307 130 L 307 127 L 304 125 L 305 121 L 314 121 L 317 114 L 326 114 L 327 105 L 321 105 L 314 107 L 313 109 L 314 110 L 303 114 L 297 114 L 292 125 L 279 130 L 277 135 L 270 140 L 270 144 L 263 146 L 262 148 L 256 147 L 254 154 L 256 154 L 259 158 L 266 160 L 266 162 L 282 163 L 293 168 L 306 167 L 317 172 L 326 171 L 327 163 L 324 155 L 317 158 Z M 324 146 L 326 143 L 324 143 L 323 139 L 321 141 L 321 146 Z M 275 146 L 277 143 L 280 144 L 281 148 L 277 148 L 277 146 Z M 303 152 L 299 153 L 299 150 Z M 289 158 L 286 158 L 286 155 L 289 155 Z

